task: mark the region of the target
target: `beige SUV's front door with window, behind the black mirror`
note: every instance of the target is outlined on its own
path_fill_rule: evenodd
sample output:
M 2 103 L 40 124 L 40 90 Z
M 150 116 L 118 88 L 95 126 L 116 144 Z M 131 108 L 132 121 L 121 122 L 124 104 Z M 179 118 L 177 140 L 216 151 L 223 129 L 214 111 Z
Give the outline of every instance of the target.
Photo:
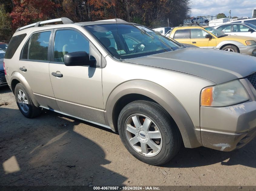
M 52 58 L 50 78 L 54 95 L 60 110 L 71 116 L 80 117 L 105 124 L 101 55 L 94 55 L 99 67 L 66 66 L 64 56 L 67 53 L 85 51 L 90 56 L 95 50 L 90 48 L 89 40 L 75 29 L 58 29 L 52 38 Z M 98 53 L 100 54 L 100 53 Z M 58 77 L 56 74 L 61 75 Z

